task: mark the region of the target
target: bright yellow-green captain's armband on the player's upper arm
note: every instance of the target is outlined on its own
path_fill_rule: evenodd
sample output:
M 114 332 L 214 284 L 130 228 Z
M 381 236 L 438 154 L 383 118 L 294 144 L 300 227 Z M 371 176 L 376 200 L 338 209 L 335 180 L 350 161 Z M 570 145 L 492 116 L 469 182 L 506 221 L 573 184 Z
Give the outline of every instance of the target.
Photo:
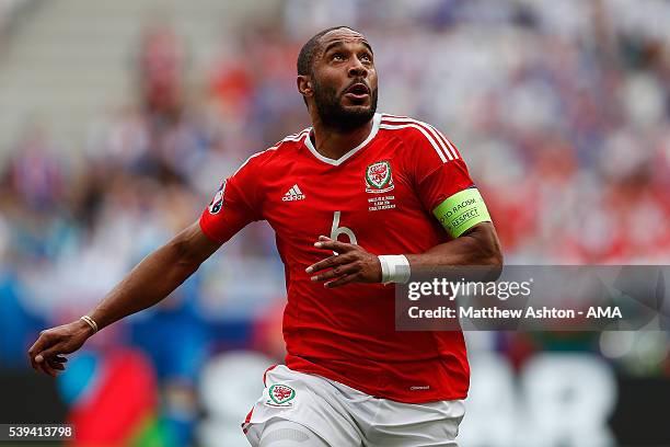
M 476 187 L 455 193 L 432 214 L 452 238 L 458 238 L 477 224 L 490 221 L 488 209 Z

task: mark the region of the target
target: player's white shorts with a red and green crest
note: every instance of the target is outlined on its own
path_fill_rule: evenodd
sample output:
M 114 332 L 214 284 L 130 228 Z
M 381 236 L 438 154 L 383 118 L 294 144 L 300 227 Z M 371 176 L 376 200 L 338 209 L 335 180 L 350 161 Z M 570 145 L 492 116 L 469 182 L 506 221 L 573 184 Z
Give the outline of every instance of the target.
M 457 446 L 463 401 L 402 403 L 379 399 L 285 365 L 266 371 L 263 396 L 242 428 L 257 446 L 265 423 L 281 419 L 310 428 L 333 447 Z

